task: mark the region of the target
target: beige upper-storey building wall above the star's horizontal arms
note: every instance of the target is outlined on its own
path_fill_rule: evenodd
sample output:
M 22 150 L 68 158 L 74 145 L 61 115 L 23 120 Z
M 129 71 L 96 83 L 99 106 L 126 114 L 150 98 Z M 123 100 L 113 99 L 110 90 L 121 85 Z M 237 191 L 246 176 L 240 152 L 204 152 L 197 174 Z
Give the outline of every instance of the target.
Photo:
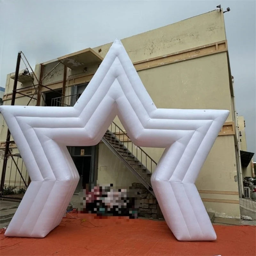
M 227 121 L 234 121 L 223 12 L 204 13 L 121 41 L 158 108 L 228 109 L 231 113 Z M 104 58 L 110 46 L 111 43 L 93 50 Z M 74 55 L 76 53 L 64 57 Z M 59 59 L 63 57 L 43 63 L 42 77 L 59 63 Z M 89 65 L 86 70 L 67 68 L 66 95 L 71 94 L 73 85 L 89 82 L 97 68 L 98 65 Z M 39 77 L 40 65 L 36 65 L 35 73 Z M 61 89 L 63 75 L 64 65 L 59 63 L 44 78 L 43 84 Z M 10 77 L 7 76 L 6 83 L 9 93 L 13 87 Z M 26 84 L 18 83 L 18 88 L 22 86 L 25 88 Z M 42 88 L 42 92 L 46 91 L 47 88 Z M 26 93 L 31 95 L 33 89 Z M 11 99 L 11 94 L 8 97 Z M 22 105 L 22 100 L 17 103 Z

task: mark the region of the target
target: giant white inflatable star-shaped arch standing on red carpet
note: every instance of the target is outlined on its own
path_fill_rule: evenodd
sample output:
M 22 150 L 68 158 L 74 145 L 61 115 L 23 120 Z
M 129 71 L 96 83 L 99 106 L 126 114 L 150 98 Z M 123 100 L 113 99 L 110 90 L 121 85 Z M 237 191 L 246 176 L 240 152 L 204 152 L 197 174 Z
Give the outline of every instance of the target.
M 166 148 L 151 183 L 178 240 L 215 240 L 195 186 L 228 110 L 159 109 L 116 40 L 74 107 L 1 106 L 28 186 L 5 236 L 44 237 L 59 225 L 79 175 L 66 146 L 100 142 L 117 115 L 132 142 Z

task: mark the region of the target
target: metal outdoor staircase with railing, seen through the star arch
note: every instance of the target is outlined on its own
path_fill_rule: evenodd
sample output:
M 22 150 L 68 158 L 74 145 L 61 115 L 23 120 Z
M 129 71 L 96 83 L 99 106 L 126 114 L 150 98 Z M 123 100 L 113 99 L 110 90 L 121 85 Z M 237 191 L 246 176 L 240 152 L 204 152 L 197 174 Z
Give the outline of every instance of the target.
M 129 136 L 114 122 L 102 141 L 155 196 L 150 178 L 157 163 L 142 148 L 135 146 Z

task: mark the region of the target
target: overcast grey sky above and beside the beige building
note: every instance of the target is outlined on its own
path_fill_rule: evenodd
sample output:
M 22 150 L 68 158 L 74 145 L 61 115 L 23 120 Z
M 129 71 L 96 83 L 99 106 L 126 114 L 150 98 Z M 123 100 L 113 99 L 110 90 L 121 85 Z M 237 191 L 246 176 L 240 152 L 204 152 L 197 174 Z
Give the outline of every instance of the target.
M 0 0 L 0 85 L 15 71 L 18 51 L 35 64 L 216 9 L 225 13 L 236 109 L 256 153 L 255 1 Z M 21 68 L 24 68 L 21 66 Z M 254 156 L 256 160 L 256 154 Z

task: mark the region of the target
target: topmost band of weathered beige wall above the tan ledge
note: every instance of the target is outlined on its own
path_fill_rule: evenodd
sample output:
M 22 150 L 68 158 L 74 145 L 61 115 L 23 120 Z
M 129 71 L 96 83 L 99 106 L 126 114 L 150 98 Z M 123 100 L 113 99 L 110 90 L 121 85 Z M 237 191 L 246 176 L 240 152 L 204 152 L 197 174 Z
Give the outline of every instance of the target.
M 223 12 L 207 12 L 122 39 L 132 62 L 226 40 Z M 93 48 L 105 57 L 112 43 Z

